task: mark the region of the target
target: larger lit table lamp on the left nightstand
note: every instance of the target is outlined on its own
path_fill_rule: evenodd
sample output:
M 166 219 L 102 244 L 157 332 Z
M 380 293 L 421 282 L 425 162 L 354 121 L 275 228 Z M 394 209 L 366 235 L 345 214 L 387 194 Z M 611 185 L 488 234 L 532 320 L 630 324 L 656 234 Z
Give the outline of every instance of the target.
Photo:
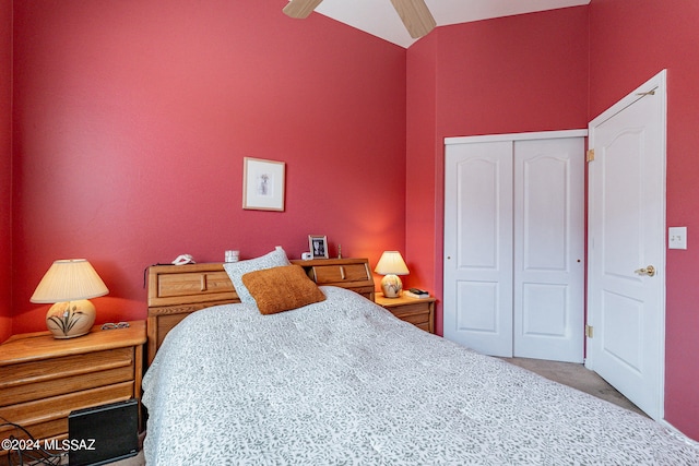
M 29 301 L 54 303 L 46 313 L 46 326 L 55 338 L 73 338 L 85 335 L 95 323 L 95 306 L 88 299 L 108 292 L 90 262 L 68 259 L 51 264 Z

